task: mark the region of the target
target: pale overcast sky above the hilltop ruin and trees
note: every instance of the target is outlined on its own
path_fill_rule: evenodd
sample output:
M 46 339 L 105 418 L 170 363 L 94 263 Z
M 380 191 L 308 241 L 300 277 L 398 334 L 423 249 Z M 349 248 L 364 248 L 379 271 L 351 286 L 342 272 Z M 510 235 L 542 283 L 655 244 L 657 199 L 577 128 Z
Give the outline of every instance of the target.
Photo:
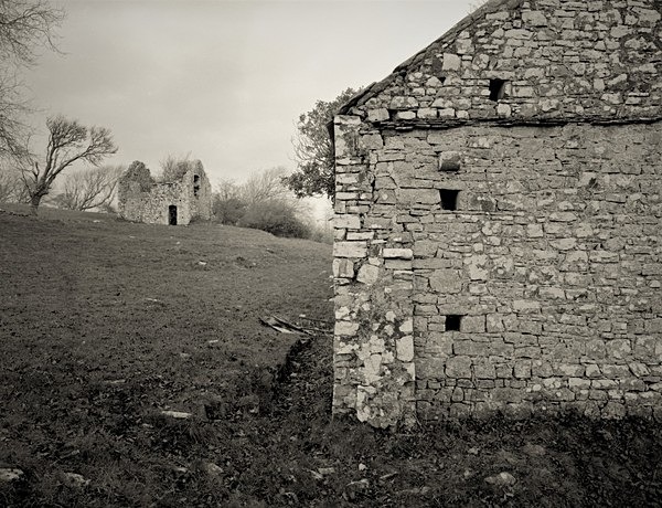
M 212 182 L 295 169 L 301 113 L 366 86 L 476 0 L 64 0 L 63 54 L 26 74 L 40 113 L 108 127 L 108 162 L 201 159 Z

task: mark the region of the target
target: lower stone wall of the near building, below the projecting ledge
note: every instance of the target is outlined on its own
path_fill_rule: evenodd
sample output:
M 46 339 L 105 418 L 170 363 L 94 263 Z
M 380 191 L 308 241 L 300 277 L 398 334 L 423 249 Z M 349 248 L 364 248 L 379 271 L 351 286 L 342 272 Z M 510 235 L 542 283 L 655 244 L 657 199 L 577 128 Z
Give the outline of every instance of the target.
M 659 123 L 391 131 L 375 155 L 375 202 L 339 198 L 364 213 L 335 221 L 337 406 L 662 415 Z

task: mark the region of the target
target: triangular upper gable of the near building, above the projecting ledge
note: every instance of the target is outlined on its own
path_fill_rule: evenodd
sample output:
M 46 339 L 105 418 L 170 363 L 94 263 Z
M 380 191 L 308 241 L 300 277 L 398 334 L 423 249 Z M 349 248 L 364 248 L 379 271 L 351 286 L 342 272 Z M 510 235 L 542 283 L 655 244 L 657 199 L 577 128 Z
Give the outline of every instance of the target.
M 376 84 L 367 118 L 449 125 L 660 116 L 661 2 L 512 3 L 489 2 Z M 491 80 L 504 82 L 498 100 Z

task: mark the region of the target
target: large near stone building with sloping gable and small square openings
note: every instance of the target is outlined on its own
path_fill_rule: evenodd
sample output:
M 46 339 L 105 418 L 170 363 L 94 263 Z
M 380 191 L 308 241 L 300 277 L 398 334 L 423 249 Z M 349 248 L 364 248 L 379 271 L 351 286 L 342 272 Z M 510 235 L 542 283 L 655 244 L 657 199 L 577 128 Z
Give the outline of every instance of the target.
M 662 416 L 658 0 L 492 0 L 334 119 L 335 413 Z

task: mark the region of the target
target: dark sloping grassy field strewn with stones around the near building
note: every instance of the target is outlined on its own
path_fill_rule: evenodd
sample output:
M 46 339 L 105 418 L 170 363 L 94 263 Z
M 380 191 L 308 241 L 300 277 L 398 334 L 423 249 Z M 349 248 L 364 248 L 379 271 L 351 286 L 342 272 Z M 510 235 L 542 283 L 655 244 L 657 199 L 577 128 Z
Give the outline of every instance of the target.
M 660 506 L 653 423 L 332 421 L 330 251 L 0 212 L 0 506 Z

